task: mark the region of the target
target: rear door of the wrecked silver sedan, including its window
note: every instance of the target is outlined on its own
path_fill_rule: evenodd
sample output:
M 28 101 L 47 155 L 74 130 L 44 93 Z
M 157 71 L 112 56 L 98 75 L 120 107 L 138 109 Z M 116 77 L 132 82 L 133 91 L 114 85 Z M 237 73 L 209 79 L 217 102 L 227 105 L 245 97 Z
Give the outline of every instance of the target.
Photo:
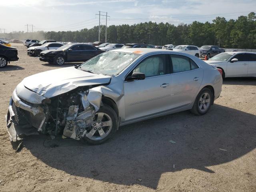
M 190 58 L 182 55 L 170 55 L 172 69 L 171 106 L 180 108 L 190 104 L 203 80 L 202 68 Z

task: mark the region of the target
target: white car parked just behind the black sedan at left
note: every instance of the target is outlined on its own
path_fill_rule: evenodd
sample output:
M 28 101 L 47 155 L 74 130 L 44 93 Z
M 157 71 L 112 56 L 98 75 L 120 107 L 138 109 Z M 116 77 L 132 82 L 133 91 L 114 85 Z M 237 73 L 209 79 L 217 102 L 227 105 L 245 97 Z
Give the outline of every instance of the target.
M 45 51 L 45 50 L 52 50 L 52 49 L 58 49 L 59 47 L 63 46 L 64 44 L 62 43 L 46 43 L 43 44 L 42 46 L 35 46 L 35 47 L 30 47 L 28 48 L 28 55 L 29 56 L 38 56 L 40 52 Z

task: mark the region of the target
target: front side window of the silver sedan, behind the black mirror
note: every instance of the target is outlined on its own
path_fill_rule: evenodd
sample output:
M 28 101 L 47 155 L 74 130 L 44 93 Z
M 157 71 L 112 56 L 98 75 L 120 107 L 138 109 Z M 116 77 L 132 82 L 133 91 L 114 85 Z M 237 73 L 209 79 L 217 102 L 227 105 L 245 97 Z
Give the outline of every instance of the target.
M 144 73 L 146 77 L 164 75 L 168 73 L 166 55 L 154 55 L 144 59 L 133 72 Z

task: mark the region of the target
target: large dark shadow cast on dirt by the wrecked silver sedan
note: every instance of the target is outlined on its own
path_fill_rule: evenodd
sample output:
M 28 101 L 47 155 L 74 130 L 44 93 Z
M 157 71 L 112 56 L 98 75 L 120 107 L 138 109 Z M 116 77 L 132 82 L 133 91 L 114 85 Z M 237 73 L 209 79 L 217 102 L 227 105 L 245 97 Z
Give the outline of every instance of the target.
M 206 166 L 250 152 L 256 147 L 255 124 L 256 116 L 215 104 L 204 116 L 186 111 L 120 127 L 98 146 L 44 135 L 29 136 L 24 144 L 42 162 L 68 174 L 156 189 L 164 172 L 195 168 L 211 174 Z

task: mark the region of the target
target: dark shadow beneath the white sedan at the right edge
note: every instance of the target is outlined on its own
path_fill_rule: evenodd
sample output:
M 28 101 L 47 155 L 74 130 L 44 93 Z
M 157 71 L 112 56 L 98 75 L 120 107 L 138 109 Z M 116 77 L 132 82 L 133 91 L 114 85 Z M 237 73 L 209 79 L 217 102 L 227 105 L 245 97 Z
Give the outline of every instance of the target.
M 256 77 L 230 77 L 224 78 L 224 85 L 256 85 Z

